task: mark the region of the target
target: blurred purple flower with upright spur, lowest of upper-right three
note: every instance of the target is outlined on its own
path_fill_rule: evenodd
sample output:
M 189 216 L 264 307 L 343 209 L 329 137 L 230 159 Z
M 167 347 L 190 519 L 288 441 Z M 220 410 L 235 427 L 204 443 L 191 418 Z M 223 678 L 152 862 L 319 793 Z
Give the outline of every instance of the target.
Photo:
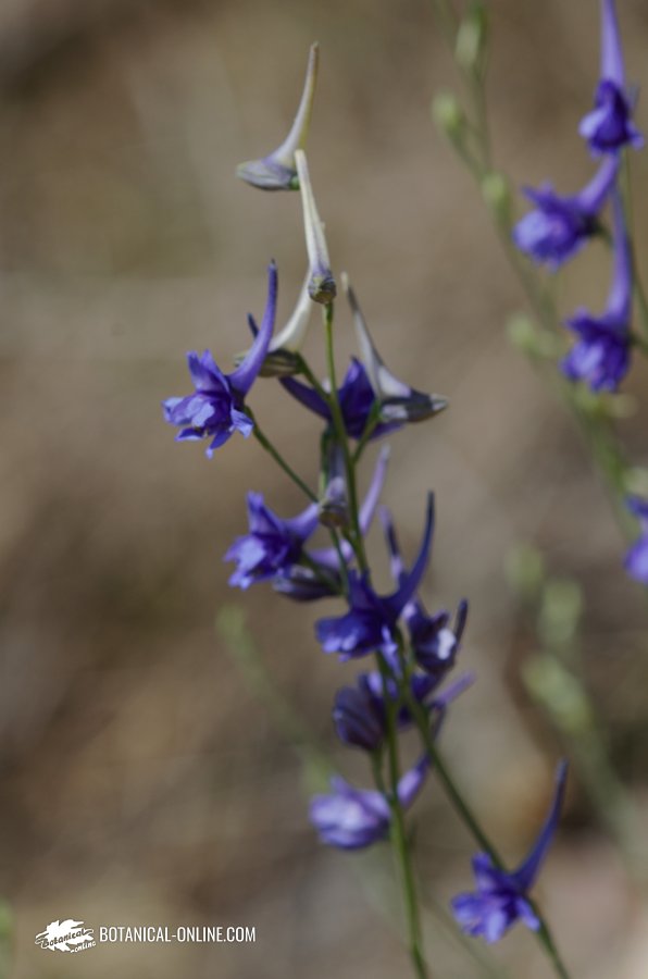
M 614 272 L 608 305 L 600 317 L 582 309 L 568 320 L 578 339 L 561 364 L 571 381 L 585 381 L 593 391 L 615 391 L 631 361 L 632 258 L 618 190 L 612 207 Z

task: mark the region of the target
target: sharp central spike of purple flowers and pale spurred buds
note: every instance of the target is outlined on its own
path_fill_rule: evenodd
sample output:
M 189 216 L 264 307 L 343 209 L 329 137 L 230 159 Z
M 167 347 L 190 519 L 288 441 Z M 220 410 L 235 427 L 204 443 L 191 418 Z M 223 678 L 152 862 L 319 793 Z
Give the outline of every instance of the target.
M 411 563 L 403 560 L 389 510 L 379 509 L 385 562 L 394 584 L 387 594 L 376 590 L 365 538 L 386 481 L 388 449 L 383 446 L 378 450 L 362 501 L 357 492 L 357 470 L 372 443 L 394 435 L 410 423 L 435 418 L 447 407 L 447 401 L 411 387 L 388 369 L 345 274 L 340 284 L 358 340 L 358 356 L 351 359 L 338 386 L 334 349 L 337 281 L 304 152 L 316 69 L 317 47 L 313 46 L 300 108 L 288 137 L 274 152 L 238 169 L 238 175 L 258 188 L 299 190 L 308 271 L 295 311 L 275 332 L 277 270 L 272 262 L 263 319 L 258 326 L 252 317 L 248 318 L 252 344 L 238 358 L 238 365 L 233 372 L 224 373 L 209 350 L 201 357 L 189 354 L 195 389 L 185 397 L 167 399 L 163 407 L 166 421 L 179 429 L 177 438 L 207 441 L 210 458 L 235 432 L 256 436 L 307 496 L 301 512 L 285 518 L 267 505 L 261 493 L 248 494 L 248 530 L 225 554 L 225 560 L 235 566 L 229 583 L 247 590 L 269 582 L 294 602 L 328 598 L 342 604 L 337 614 L 316 621 L 315 635 L 324 653 L 337 654 L 342 662 L 363 661 L 362 671 L 335 695 L 333 723 L 342 744 L 365 754 L 374 788 L 357 789 L 337 777 L 332 781 L 331 792 L 312 800 L 310 816 L 324 843 L 359 850 L 391 837 L 402 853 L 409 845 L 403 814 L 414 803 L 435 761 L 439 764 L 436 738 L 450 705 L 472 682 L 472 677 L 464 674 L 446 684 L 460 650 L 468 604 L 460 602 L 454 617 L 445 609 L 429 614 L 420 595 L 434 534 L 432 494 L 427 495 L 421 541 Z M 603 183 L 610 179 L 607 171 L 603 177 Z M 590 198 L 600 194 L 597 186 Z M 303 354 L 311 314 L 316 307 L 324 320 L 328 365 L 324 380 L 316 376 Z M 272 383 L 278 381 L 279 389 L 317 419 L 316 482 L 309 483 L 295 472 L 254 417 L 248 396 L 260 377 L 273 379 Z M 317 534 L 327 535 L 329 541 L 315 541 Z M 414 731 L 421 742 L 418 760 L 403 771 L 400 739 Z M 558 809 L 559 802 L 551 825 L 541 838 L 543 852 Z M 476 859 L 483 863 L 483 857 Z M 507 926 L 521 917 L 536 927 L 536 919 L 527 912 L 531 905 L 525 903 L 525 895 L 535 879 L 539 859 L 536 854 L 531 862 L 532 869 L 518 871 L 510 876 L 510 881 L 499 868 L 490 868 L 494 880 L 498 873 L 501 876 L 497 884 L 501 884 L 500 890 L 504 888 L 504 878 L 509 891 L 515 890 L 513 909 L 507 905 Z M 481 894 L 485 873 L 486 869 L 482 868 Z M 479 931 L 475 921 L 491 914 L 490 910 L 482 913 L 475 901 L 484 903 L 486 899 L 482 894 L 471 905 L 473 933 Z M 463 895 L 457 899 L 454 907 L 463 926 L 468 921 L 466 902 Z M 482 930 L 487 937 L 494 934 L 493 927 Z M 504 929 L 495 930 L 503 933 Z

